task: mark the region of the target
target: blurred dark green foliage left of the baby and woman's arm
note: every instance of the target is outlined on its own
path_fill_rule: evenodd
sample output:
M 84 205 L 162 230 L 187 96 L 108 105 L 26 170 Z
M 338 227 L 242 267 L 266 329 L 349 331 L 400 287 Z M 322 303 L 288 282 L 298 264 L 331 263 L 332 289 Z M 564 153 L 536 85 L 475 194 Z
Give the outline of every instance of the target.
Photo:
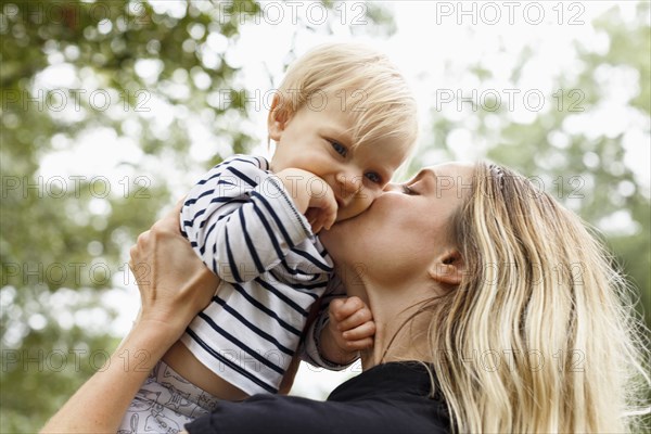
M 324 3 L 331 22 L 337 4 Z M 101 369 L 117 344 L 104 297 L 132 284 L 128 247 L 175 187 L 251 149 L 231 58 L 261 13 L 252 0 L 2 2 L 0 432 L 37 432 Z M 212 151 L 199 161 L 197 128 Z M 82 152 L 77 173 L 42 164 Z

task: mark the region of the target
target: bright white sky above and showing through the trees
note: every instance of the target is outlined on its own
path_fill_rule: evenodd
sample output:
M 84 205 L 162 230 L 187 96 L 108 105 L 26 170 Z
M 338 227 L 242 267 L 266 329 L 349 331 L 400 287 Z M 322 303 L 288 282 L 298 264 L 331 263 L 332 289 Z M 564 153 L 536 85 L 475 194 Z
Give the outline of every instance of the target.
M 424 126 L 422 140 L 432 140 L 426 129 L 431 123 L 432 108 L 434 104 L 442 103 L 442 92 L 448 89 L 486 89 L 513 88 L 509 81 L 509 73 L 512 65 L 518 61 L 516 53 L 523 48 L 529 47 L 534 51 L 534 58 L 523 71 L 519 88 L 539 89 L 545 94 L 553 91 L 552 79 L 560 75 L 576 74 L 577 65 L 572 41 L 576 40 L 584 47 L 596 53 L 604 53 L 610 44 L 608 35 L 597 33 L 590 25 L 592 16 L 603 12 L 615 2 L 610 1 L 583 1 L 583 2 L 457 2 L 457 1 L 401 1 L 383 2 L 392 11 L 397 24 L 397 31 L 388 39 L 378 36 L 353 36 L 365 33 L 367 29 L 363 17 L 365 5 L 361 2 L 348 1 L 337 5 L 344 15 L 337 17 L 332 26 L 334 36 L 326 35 L 326 24 L 321 23 L 324 10 L 309 2 L 280 3 L 277 1 L 263 3 L 264 10 L 269 14 L 267 18 L 252 20 L 242 27 L 240 40 L 235 43 L 237 50 L 231 50 L 228 58 L 229 63 L 243 67 L 242 80 L 250 90 L 259 89 L 260 94 L 272 89 L 271 75 L 278 82 L 282 76 L 284 61 L 288 51 L 295 43 L 296 54 L 301 55 L 317 43 L 335 40 L 361 40 L 374 44 L 385 51 L 396 62 L 408 80 L 416 89 L 420 104 L 421 125 Z M 625 17 L 633 17 L 635 2 L 617 2 Z M 183 2 L 165 1 L 156 2 L 155 7 L 176 13 Z M 332 14 L 332 11 L 330 11 Z M 296 33 L 293 25 L 295 20 L 304 20 L 312 24 L 316 31 Z M 475 23 L 473 23 L 473 20 Z M 343 22 L 343 24 L 342 24 Z M 460 24 L 459 24 L 460 23 Z M 535 24 L 539 23 L 539 24 Z M 227 41 L 219 35 L 209 39 L 212 50 L 224 52 Z M 471 64 L 490 65 L 495 75 L 489 86 L 478 84 L 470 74 L 465 74 Z M 138 66 L 143 75 L 150 74 L 155 68 L 155 63 L 142 63 Z M 69 68 L 68 68 L 69 69 Z M 599 79 L 596 72 L 596 79 Z M 595 135 L 604 133 L 616 136 L 627 131 L 624 143 L 627 146 L 625 163 L 631 167 L 640 184 L 649 189 L 651 154 L 649 146 L 649 118 L 639 117 L 626 108 L 627 98 L 635 95 L 635 80 L 631 80 L 630 72 L 626 71 L 602 71 L 603 77 L 610 77 L 609 86 L 613 87 L 612 101 L 608 110 L 599 111 L 595 117 L 577 116 L 567 128 L 573 131 L 591 130 Z M 611 79 L 612 77 L 615 79 Z M 39 79 L 42 86 L 79 87 L 74 78 L 74 72 L 67 71 L 65 65 L 50 68 Z M 602 77 L 602 78 L 603 78 Z M 605 80 L 605 78 L 603 78 Z M 633 84 L 633 85 L 631 85 Z M 87 85 L 87 82 L 86 82 Z M 502 100 L 507 100 L 507 93 L 501 93 Z M 165 125 L 169 122 L 170 110 L 164 105 L 151 104 L 153 113 L 149 118 Z M 442 113 L 449 116 L 463 116 L 462 112 L 445 111 Z M 534 113 L 525 110 L 522 100 L 515 99 L 512 118 L 518 122 L 532 120 Z M 266 153 L 266 111 L 261 107 L 252 112 L 253 122 L 243 126 L 252 135 L 259 138 L 260 145 L 254 152 Z M 132 128 L 140 128 L 133 122 Z M 196 159 L 205 159 L 214 152 L 214 148 L 205 145 L 207 139 L 202 131 L 201 125 L 196 126 L 190 146 L 191 155 Z M 108 129 L 100 129 L 91 133 L 78 143 L 68 143 L 63 137 L 54 137 L 54 149 L 60 150 L 47 156 L 41 166 L 43 176 L 114 174 L 112 180 L 122 179 L 124 176 L 135 176 L 129 167 L 120 166 L 119 155 L 125 153 L 137 153 L 142 155 L 137 143 L 129 138 L 117 138 L 115 132 Z M 458 157 L 463 159 L 480 156 L 485 152 L 485 146 L 468 146 L 471 142 L 463 131 L 457 131 L 448 140 L 456 141 L 459 150 Z M 90 144 L 89 144 L 90 143 Z M 105 145 L 101 145 L 101 144 Z M 473 143 L 476 143 L 473 141 Z M 431 154 L 436 158 L 436 154 Z M 165 165 L 166 158 L 150 158 L 144 165 L 152 167 L 155 173 L 161 165 Z M 163 162 L 161 161 L 163 159 Z M 427 159 L 427 157 L 425 157 Z M 435 163 L 425 161 L 423 163 Z M 179 195 L 189 186 L 188 174 L 170 173 L 168 178 L 178 179 Z M 192 176 L 192 179 L 196 176 Z M 95 204 L 95 213 L 105 213 L 101 203 Z M 124 286 L 124 277 L 116 276 L 116 286 Z M 138 306 L 137 290 L 130 285 L 127 290 L 118 289 L 106 295 L 105 302 L 115 306 L 122 312 L 115 322 L 116 334 L 123 335 L 130 326 Z M 125 306 L 131 306 L 125 309 Z M 75 320 L 92 322 L 91 318 L 97 311 L 89 310 L 77 315 Z M 316 372 L 316 369 L 302 368 L 296 380 L 294 393 L 322 397 L 324 393 L 332 390 L 343 379 L 359 372 L 359 366 L 348 369 L 346 372 Z

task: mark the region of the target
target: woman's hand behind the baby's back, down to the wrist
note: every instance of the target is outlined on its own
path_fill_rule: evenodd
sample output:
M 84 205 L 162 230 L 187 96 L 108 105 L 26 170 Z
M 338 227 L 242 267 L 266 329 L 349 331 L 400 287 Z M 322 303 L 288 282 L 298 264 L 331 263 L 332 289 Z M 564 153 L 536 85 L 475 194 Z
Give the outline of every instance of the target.
M 219 278 L 180 233 L 181 205 L 182 201 L 138 237 L 129 261 L 142 302 L 137 322 L 159 324 L 175 339 L 208 305 L 219 285 Z

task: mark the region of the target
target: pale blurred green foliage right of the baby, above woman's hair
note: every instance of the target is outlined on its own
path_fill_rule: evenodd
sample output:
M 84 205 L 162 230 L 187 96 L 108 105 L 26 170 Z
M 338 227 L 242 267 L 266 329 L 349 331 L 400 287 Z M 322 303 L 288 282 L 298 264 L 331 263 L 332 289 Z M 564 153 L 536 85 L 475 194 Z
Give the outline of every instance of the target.
M 505 103 L 507 97 L 502 95 L 501 105 L 486 98 L 478 110 L 464 112 L 462 119 L 450 119 L 445 113 L 436 112 L 433 129 L 436 145 L 446 143 L 442 155 L 448 157 L 464 157 L 446 141 L 450 131 L 457 128 L 487 140 L 485 155 L 488 158 L 531 177 L 538 187 L 596 226 L 639 294 L 641 303 L 638 307 L 651 326 L 651 208 L 648 188 L 640 187 L 636 175 L 624 162 L 627 131 L 610 136 L 576 132 L 567 127 L 579 117 L 596 116 L 603 104 L 610 103 L 613 89 L 596 79 L 599 68 L 607 67 L 635 72 L 633 76 L 638 79 L 639 91 L 627 101 L 627 107 L 631 115 L 647 118 L 641 129 L 649 133 L 651 58 L 643 55 L 651 53 L 651 30 L 643 20 L 649 13 L 650 3 L 641 2 L 634 25 L 625 25 L 616 8 L 600 16 L 595 27 L 608 35 L 608 52 L 597 54 L 575 47 L 577 64 L 583 66 L 580 73 L 576 77 L 572 74 L 558 77 L 552 86 L 554 90 L 544 94 L 546 106 L 550 108 L 537 112 L 532 122 L 514 120 L 510 113 L 512 106 Z M 528 48 L 521 53 L 511 76 L 514 85 L 521 79 L 531 54 Z M 493 78 L 489 68 L 475 65 L 471 73 L 478 79 L 480 89 L 490 89 L 489 85 L 482 86 Z M 522 98 L 527 89 L 515 87 Z M 531 105 L 536 106 L 535 103 Z M 495 106 L 498 108 L 493 110 Z M 598 122 L 598 117 L 590 118 L 589 125 L 601 127 L 596 125 Z M 469 125 L 475 127 L 469 128 Z M 633 144 L 636 148 L 649 145 L 643 140 Z

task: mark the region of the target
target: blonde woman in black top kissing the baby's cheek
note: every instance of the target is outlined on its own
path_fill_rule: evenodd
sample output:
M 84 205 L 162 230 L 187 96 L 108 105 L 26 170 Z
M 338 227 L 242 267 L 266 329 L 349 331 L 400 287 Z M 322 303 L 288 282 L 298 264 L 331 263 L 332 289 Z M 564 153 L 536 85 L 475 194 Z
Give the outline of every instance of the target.
M 131 251 L 151 272 L 138 276 L 142 315 L 116 354 L 146 349 L 145 369 L 217 283 L 176 232 L 164 219 Z M 525 178 L 483 163 L 423 169 L 321 239 L 373 312 L 363 372 L 326 403 L 224 403 L 191 433 L 635 429 L 649 350 L 624 281 L 579 219 Z M 115 431 L 145 376 L 111 363 L 46 431 Z

